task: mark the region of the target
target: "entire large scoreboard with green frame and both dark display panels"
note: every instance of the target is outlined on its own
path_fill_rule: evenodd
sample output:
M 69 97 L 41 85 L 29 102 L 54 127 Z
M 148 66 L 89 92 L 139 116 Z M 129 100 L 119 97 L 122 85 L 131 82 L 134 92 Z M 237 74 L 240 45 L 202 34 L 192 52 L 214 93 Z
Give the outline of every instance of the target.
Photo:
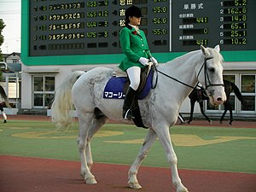
M 255 0 L 22 0 L 26 65 L 119 63 L 125 9 L 142 10 L 140 28 L 160 61 L 219 44 L 225 61 L 256 61 Z

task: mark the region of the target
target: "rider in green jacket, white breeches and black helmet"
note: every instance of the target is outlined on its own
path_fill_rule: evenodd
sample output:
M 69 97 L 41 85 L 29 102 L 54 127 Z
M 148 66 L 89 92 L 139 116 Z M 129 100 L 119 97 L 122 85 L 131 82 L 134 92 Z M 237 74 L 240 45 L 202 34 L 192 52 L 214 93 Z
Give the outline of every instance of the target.
M 141 68 L 149 65 L 149 61 L 157 64 L 148 49 L 145 33 L 139 29 L 142 17 L 141 9 L 132 5 L 125 11 L 125 28 L 119 33 L 119 39 L 125 59 L 121 61 L 119 68 L 128 74 L 130 86 L 125 94 L 123 105 L 123 118 L 133 119 L 131 103 L 136 96 L 140 84 Z

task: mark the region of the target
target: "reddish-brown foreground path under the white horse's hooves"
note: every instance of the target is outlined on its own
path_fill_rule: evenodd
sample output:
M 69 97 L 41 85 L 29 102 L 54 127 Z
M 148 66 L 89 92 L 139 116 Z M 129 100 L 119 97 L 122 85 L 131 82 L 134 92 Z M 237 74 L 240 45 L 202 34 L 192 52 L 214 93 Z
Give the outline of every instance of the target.
M 127 187 L 129 166 L 96 163 L 98 183 L 85 184 L 79 162 L 30 157 L 0 156 L 1 192 L 166 192 L 175 191 L 168 168 L 142 166 L 138 174 L 143 189 Z M 179 170 L 189 192 L 255 192 L 256 175 L 238 172 Z

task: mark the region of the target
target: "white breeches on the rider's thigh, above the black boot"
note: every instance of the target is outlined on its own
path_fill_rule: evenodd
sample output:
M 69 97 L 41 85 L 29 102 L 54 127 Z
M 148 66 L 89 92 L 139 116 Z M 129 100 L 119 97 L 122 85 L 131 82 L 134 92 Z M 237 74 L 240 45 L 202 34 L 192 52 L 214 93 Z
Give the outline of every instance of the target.
M 126 70 L 131 81 L 130 87 L 137 90 L 141 80 L 141 67 L 130 67 Z

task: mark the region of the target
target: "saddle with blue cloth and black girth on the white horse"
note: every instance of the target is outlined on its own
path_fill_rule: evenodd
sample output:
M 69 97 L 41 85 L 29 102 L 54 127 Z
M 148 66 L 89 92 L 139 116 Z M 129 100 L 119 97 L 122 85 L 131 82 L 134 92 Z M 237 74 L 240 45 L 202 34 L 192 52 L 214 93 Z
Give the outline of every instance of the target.
M 103 92 L 103 98 L 106 99 L 124 99 L 126 90 L 130 85 L 130 80 L 127 77 L 127 73 L 119 72 L 115 70 L 113 72 L 113 76 L 108 80 L 108 83 L 105 86 Z M 138 105 L 138 100 L 142 100 L 146 96 L 148 96 L 149 90 L 152 87 L 152 79 L 153 79 L 153 67 L 144 67 L 141 73 L 141 82 L 137 89 L 137 96 L 135 96 L 134 101 L 131 104 L 131 112 L 135 119 L 132 119 L 134 124 L 137 127 L 148 128 L 143 125 L 143 120 L 141 118 L 141 113 Z

